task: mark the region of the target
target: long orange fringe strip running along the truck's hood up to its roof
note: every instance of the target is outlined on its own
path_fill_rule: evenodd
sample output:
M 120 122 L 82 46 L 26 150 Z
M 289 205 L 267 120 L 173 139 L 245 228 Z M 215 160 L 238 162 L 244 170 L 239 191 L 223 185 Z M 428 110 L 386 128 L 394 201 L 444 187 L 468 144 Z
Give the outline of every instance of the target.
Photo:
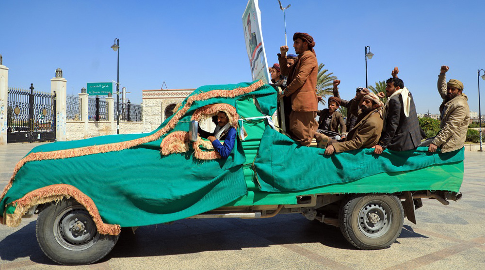
M 233 98 L 238 95 L 244 95 L 246 93 L 253 92 L 257 90 L 259 87 L 263 86 L 264 83 L 262 80 L 259 80 L 248 87 L 244 88 L 237 88 L 233 90 L 212 90 L 206 93 L 200 93 L 198 95 L 192 95 L 187 98 L 187 102 L 185 105 L 175 113 L 172 119 L 162 127 L 160 130 L 155 132 L 152 135 L 146 136 L 144 138 L 120 142 L 120 143 L 109 143 L 109 144 L 102 144 L 102 145 L 93 145 L 93 146 L 86 146 L 81 148 L 75 149 L 67 149 L 67 150 L 59 150 L 53 152 L 46 152 L 46 153 L 31 153 L 18 161 L 15 166 L 14 173 L 10 178 L 9 183 L 3 189 L 1 193 L 0 200 L 3 200 L 7 191 L 12 187 L 12 182 L 17 174 L 18 170 L 27 162 L 35 161 L 35 160 L 44 160 L 44 159 L 65 159 L 65 158 L 73 158 L 73 157 L 81 157 L 86 155 L 93 155 L 93 154 L 100 154 L 100 153 L 107 153 L 113 151 L 121 151 L 124 149 L 128 149 L 131 147 L 135 147 L 137 145 L 143 143 L 149 143 L 158 140 L 162 135 L 166 134 L 168 131 L 172 130 L 178 123 L 178 121 L 183 117 L 183 115 L 190 109 L 194 101 L 200 100 L 207 100 L 213 97 L 228 97 Z

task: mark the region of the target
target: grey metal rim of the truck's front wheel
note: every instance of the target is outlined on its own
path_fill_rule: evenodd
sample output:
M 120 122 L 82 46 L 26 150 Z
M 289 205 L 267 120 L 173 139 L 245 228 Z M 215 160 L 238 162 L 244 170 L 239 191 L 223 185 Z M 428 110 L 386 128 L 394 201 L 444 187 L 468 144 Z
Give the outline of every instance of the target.
M 54 238 L 65 249 L 78 251 L 93 246 L 99 239 L 96 224 L 80 205 L 69 206 L 54 221 Z

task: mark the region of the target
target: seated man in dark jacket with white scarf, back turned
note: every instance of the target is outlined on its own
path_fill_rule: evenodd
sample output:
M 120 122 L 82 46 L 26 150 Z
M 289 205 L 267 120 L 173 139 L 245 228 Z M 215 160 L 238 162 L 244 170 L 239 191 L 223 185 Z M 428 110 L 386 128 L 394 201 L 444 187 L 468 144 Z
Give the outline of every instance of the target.
M 397 78 L 398 68 L 391 72 L 393 78 L 386 81 L 388 100 L 384 105 L 384 128 L 381 138 L 374 148 L 381 154 L 386 148 L 393 151 L 408 151 L 418 148 L 421 143 L 421 130 L 414 105 L 413 95 L 404 87 L 402 79 Z

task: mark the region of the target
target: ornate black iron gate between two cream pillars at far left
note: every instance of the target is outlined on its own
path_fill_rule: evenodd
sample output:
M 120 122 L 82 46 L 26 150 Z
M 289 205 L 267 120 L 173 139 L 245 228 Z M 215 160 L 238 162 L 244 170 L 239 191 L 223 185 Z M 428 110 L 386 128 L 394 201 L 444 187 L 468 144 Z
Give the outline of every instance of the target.
M 56 93 L 8 89 L 7 143 L 56 139 Z

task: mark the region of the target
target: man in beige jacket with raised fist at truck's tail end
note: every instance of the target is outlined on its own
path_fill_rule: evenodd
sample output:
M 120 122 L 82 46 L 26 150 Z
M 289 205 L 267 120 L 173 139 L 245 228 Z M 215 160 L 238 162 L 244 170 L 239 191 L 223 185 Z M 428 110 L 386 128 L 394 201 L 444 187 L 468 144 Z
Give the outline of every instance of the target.
M 443 103 L 439 106 L 441 130 L 429 144 L 428 151 L 432 153 L 436 152 L 438 146 L 441 147 L 441 153 L 461 149 L 467 138 L 470 121 L 468 97 L 462 93 L 464 87 L 461 81 L 450 79 L 446 82 L 446 72 L 449 69 L 446 65 L 441 66 L 438 75 L 438 92 L 443 98 Z

